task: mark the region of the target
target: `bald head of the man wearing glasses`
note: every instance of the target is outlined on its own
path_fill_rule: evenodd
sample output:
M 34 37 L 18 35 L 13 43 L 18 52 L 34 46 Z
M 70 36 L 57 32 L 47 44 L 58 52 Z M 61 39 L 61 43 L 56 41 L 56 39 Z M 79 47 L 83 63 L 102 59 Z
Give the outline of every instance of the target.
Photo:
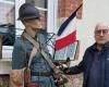
M 109 41 L 109 25 L 100 23 L 95 28 L 95 40 L 98 45 L 104 45 Z

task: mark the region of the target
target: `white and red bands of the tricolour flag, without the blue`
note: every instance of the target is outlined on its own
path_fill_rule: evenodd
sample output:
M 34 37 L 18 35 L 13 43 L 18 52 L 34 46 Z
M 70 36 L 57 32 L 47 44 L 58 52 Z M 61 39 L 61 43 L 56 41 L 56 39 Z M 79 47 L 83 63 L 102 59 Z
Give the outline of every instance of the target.
M 75 22 L 76 18 L 73 18 L 64 29 L 64 33 L 57 37 L 56 50 L 61 50 L 62 48 L 73 44 L 76 40 Z

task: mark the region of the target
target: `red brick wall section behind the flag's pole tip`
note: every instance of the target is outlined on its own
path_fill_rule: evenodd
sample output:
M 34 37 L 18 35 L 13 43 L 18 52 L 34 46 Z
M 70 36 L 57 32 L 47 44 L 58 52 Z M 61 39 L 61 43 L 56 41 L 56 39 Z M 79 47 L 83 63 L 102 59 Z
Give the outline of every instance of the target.
M 82 2 L 83 0 L 58 0 L 58 17 L 70 16 Z M 77 18 L 82 18 L 82 8 L 76 12 Z

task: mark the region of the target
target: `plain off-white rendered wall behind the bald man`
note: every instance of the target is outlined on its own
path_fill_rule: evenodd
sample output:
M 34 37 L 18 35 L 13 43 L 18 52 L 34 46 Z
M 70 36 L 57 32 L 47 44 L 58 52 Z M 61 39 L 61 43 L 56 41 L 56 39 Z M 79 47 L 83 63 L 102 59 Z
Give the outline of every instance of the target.
M 77 39 L 81 40 L 82 59 L 86 48 L 95 42 L 94 29 L 98 22 L 109 23 L 109 0 L 84 0 L 83 18 L 77 21 Z

